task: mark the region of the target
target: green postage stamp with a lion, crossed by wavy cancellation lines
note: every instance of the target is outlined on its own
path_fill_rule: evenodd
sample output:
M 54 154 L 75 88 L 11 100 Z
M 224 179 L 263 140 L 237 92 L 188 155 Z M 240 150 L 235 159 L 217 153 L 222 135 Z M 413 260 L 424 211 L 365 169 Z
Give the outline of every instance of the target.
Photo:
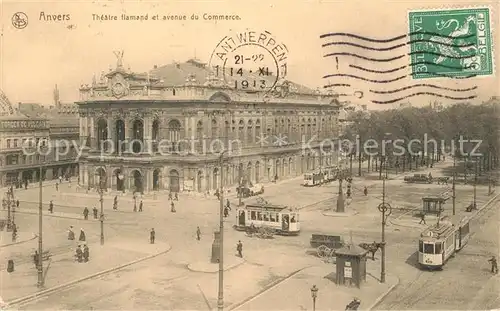
M 493 74 L 488 8 L 409 13 L 414 79 Z

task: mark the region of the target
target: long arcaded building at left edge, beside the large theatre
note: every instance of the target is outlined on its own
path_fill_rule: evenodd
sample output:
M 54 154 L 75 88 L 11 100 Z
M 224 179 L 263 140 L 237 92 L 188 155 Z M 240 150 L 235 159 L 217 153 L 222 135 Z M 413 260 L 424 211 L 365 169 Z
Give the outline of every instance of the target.
M 57 103 L 51 108 L 19 103 L 5 94 L 0 106 L 0 187 L 19 187 L 59 176 L 76 176 L 79 147 L 78 109 Z M 75 141 L 75 143 L 61 143 Z M 39 152 L 36 146 L 41 146 Z

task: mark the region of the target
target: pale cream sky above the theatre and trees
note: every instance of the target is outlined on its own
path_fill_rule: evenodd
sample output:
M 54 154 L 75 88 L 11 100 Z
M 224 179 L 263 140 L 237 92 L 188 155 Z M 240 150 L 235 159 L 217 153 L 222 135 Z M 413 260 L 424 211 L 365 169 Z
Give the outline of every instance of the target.
M 328 83 L 350 84 L 334 89 L 347 94 L 341 100 L 353 104 L 367 104 L 371 109 L 394 107 L 396 104 L 375 105 L 369 94 L 374 85 L 350 78 L 329 78 L 328 74 L 352 73 L 350 65 L 361 65 L 362 60 L 351 56 L 325 58 L 332 52 L 324 48 L 325 39 L 320 35 L 331 32 L 348 32 L 373 38 L 392 38 L 408 32 L 408 12 L 429 9 L 489 7 L 493 44 L 497 44 L 500 18 L 498 1 L 2 1 L 0 4 L 3 40 L 1 48 L 0 88 L 12 103 L 32 102 L 52 104 L 53 89 L 57 84 L 62 102 L 79 99 L 78 88 L 91 83 L 92 76 L 108 71 L 116 64 L 113 51 L 125 52 L 123 62 L 134 72 L 145 72 L 154 65 L 186 61 L 195 57 L 208 62 L 217 43 L 227 35 L 246 29 L 268 31 L 288 48 L 287 79 L 313 89 Z M 17 29 L 12 16 L 24 12 L 28 25 Z M 45 21 L 45 16 L 67 14 L 69 20 Z M 239 20 L 208 21 L 203 14 L 238 15 Z M 95 15 L 111 14 L 120 19 L 121 14 L 145 15 L 147 21 L 97 21 Z M 152 16 L 186 15 L 186 21 L 153 21 Z M 191 20 L 191 15 L 199 15 Z M 346 41 L 340 40 L 339 41 Z M 345 38 L 344 38 L 345 39 Z M 349 39 L 349 38 L 347 38 Z M 350 42 L 372 44 L 349 39 Z M 347 41 L 349 41 L 347 40 Z M 404 40 L 401 41 L 404 43 Z M 394 44 L 400 42 L 394 42 Z M 383 45 L 378 44 L 377 47 Z M 387 44 L 385 45 L 387 46 Z M 366 57 L 390 57 L 409 52 L 408 47 L 398 51 L 371 52 L 352 46 L 333 47 L 335 52 L 349 52 Z M 499 49 L 493 46 L 498 61 Z M 404 66 L 409 57 L 403 57 L 391 66 Z M 373 65 L 373 64 L 372 64 Z M 380 64 L 376 64 L 380 69 Z M 364 66 L 364 65 L 363 65 Z M 365 66 L 366 67 L 366 66 Z M 389 67 L 384 67 L 387 69 Z M 407 72 L 408 73 L 408 72 Z M 472 88 L 478 98 L 487 100 L 498 96 L 500 83 L 498 66 L 492 75 L 465 80 L 403 79 L 391 86 L 375 85 L 380 90 L 391 90 L 411 83 L 430 83 L 451 88 Z M 364 73 L 365 76 L 367 73 Z M 381 78 L 368 74 L 368 78 Z M 384 75 L 383 78 L 394 78 Z M 362 91 L 361 99 L 353 97 Z M 405 94 L 409 94 L 408 92 Z M 449 92 L 447 93 L 449 94 Z M 456 95 L 456 94 L 455 94 Z M 378 96 L 378 95 L 377 95 Z M 460 96 L 460 95 L 457 95 Z M 396 96 L 397 97 L 397 96 Z M 396 98 L 394 96 L 391 99 Z M 380 100 L 380 96 L 376 99 Z M 413 105 L 428 104 L 436 100 L 430 96 L 413 97 Z M 445 99 L 437 99 L 446 103 Z

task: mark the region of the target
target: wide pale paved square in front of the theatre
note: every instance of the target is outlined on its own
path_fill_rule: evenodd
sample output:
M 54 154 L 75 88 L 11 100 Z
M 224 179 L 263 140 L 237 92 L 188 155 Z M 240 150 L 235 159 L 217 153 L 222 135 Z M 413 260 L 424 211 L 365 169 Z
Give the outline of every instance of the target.
M 439 163 L 433 169 L 422 170 L 438 176 L 443 166 Z M 375 175 L 376 173 L 371 173 Z M 411 173 L 413 174 L 413 173 Z M 368 174 L 365 174 L 368 175 Z M 335 265 L 325 262 L 314 255 L 309 243 L 311 234 L 340 235 L 345 242 L 354 244 L 371 243 L 380 240 L 380 213 L 377 205 L 382 202 L 382 182 L 376 178 L 354 178 L 353 196 L 346 205 L 347 211 L 355 211 L 346 217 L 325 216 L 325 211 L 333 211 L 336 206 L 338 182 L 320 187 L 305 188 L 301 178 L 266 184 L 262 198 L 270 203 L 285 204 L 300 209 L 301 234 L 299 236 L 275 236 L 273 239 L 248 237 L 244 232 L 232 228 L 234 207 L 238 199 L 228 196 L 233 211 L 224 219 L 224 245 L 226 271 L 224 273 L 224 303 L 228 309 L 235 310 L 305 310 L 311 308 L 309 289 L 312 284 L 319 288 L 317 308 L 342 309 L 353 297 L 362 300 L 361 308 L 368 308 L 386 294 L 394 292 L 381 302 L 377 308 L 400 308 L 403 305 L 396 297 L 408 298 L 404 306 L 425 308 L 430 302 L 417 299 L 420 294 L 421 279 L 428 280 L 432 288 L 432 273 L 424 273 L 416 267 L 415 252 L 420 232 L 425 228 L 419 225 L 414 214 L 422 209 L 421 198 L 445 192 L 450 185 L 406 184 L 403 174 L 392 175 L 386 181 L 386 202 L 393 207 L 393 214 L 386 228 L 387 240 L 387 281 L 379 283 L 380 252 L 375 260 L 368 260 L 367 282 L 361 289 L 336 285 L 331 275 Z M 362 193 L 368 188 L 368 195 Z M 471 185 L 457 185 L 456 211 L 460 215 L 472 198 Z M 21 201 L 16 211 L 16 223 L 20 227 L 18 244 L 8 245 L 8 233 L 2 235 L 2 287 L 1 297 L 9 302 L 37 292 L 36 269 L 31 255 L 37 248 L 38 203 L 37 189 L 19 190 L 16 195 Z M 143 198 L 144 210 L 134 212 L 134 199 L 131 195 L 119 197 L 119 208 L 112 209 L 113 195 L 105 196 L 104 234 L 105 244 L 100 245 L 100 221 L 93 219 L 92 208 L 100 208 L 98 195 L 77 193 L 68 185 L 59 190 L 48 186 L 44 188 L 43 237 L 44 249 L 53 253 L 46 274 L 46 288 L 61 288 L 43 297 L 26 298 L 15 306 L 20 309 L 213 309 L 217 305 L 217 267 L 210 264 L 213 232 L 218 228 L 219 202 L 215 197 L 198 197 L 180 194 L 174 201 L 176 213 L 170 212 L 170 201 L 166 194 L 148 195 Z M 490 201 L 485 186 L 477 186 L 478 206 Z M 70 199 L 72 198 L 72 199 Z M 49 213 L 48 203 L 54 202 L 54 212 Z M 243 199 L 245 203 L 255 198 Z M 140 199 L 139 199 L 140 201 Z M 476 280 L 471 285 L 478 295 L 488 296 L 495 282 L 489 281 L 487 258 L 498 244 L 491 233 L 495 226 L 494 213 L 498 202 L 486 212 L 477 224 L 470 245 L 448 265 L 450 271 L 459 269 L 460 258 L 465 258 L 467 275 Z M 83 219 L 83 208 L 90 209 L 88 220 Z M 445 204 L 444 215 L 449 214 L 451 202 Z M 5 214 L 5 212 L 3 212 Z M 3 216 L 4 217 L 4 216 Z M 432 218 L 428 218 L 428 223 Z M 88 263 L 74 260 L 76 242 L 67 240 L 67 229 L 73 226 L 78 236 L 80 228 L 87 234 L 91 249 Z M 196 239 L 196 228 L 201 229 L 201 239 Z M 149 231 L 155 228 L 156 243 L 149 244 Z M 243 258 L 236 257 L 236 244 L 243 243 Z M 4 242 L 5 241 L 5 242 Z M 476 243 L 477 242 L 477 243 Z M 141 258 L 157 257 L 114 270 Z M 8 273 L 6 261 L 14 259 L 15 271 Z M 47 263 L 47 262 L 44 262 Z M 479 271 L 475 273 L 475 269 Z M 111 271 L 106 271 L 111 270 Z M 106 272 L 102 274 L 103 272 Z M 448 270 L 444 272 L 450 274 Z M 93 278 L 89 278 L 92 277 Z M 87 279 L 88 278 L 88 279 Z M 78 281 L 80 279 L 80 281 Z M 436 284 L 442 284 L 440 278 Z M 78 281 L 74 284 L 68 282 Z M 451 281 L 447 281 L 451 282 Z M 489 284 L 483 290 L 478 285 Z M 488 283 L 489 282 L 489 283 Z M 427 284 L 427 283 L 426 283 Z M 395 288 L 395 289 L 394 289 Z M 412 293 L 406 293 L 409 288 Z M 429 289 L 430 291 L 430 289 Z M 329 294 L 326 294 L 329 293 Z M 334 294 L 331 294 L 334 293 Z M 395 293 L 395 294 L 393 294 Z M 429 294 L 429 293 L 428 293 Z M 420 296 L 419 296 L 420 295 Z M 431 295 L 432 296 L 432 295 Z M 166 298 L 168 297 L 168 298 Z M 434 297 L 434 296 L 432 296 Z M 437 296 L 436 296 L 437 297 Z M 434 299 L 434 298 L 432 298 Z M 437 299 L 437 298 L 436 298 Z M 430 300 L 429 300 L 430 301 Z M 489 300 L 488 300 L 489 301 Z M 480 305 L 482 300 L 477 300 Z M 484 305 L 484 303 L 483 303 Z

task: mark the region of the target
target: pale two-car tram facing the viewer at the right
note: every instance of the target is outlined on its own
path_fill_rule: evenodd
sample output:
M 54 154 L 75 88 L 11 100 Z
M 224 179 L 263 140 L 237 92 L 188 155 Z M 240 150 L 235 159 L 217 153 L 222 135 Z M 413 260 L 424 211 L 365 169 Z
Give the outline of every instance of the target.
M 442 269 L 446 261 L 461 250 L 470 238 L 469 219 L 454 225 L 446 217 L 420 234 L 418 263 L 424 269 Z

